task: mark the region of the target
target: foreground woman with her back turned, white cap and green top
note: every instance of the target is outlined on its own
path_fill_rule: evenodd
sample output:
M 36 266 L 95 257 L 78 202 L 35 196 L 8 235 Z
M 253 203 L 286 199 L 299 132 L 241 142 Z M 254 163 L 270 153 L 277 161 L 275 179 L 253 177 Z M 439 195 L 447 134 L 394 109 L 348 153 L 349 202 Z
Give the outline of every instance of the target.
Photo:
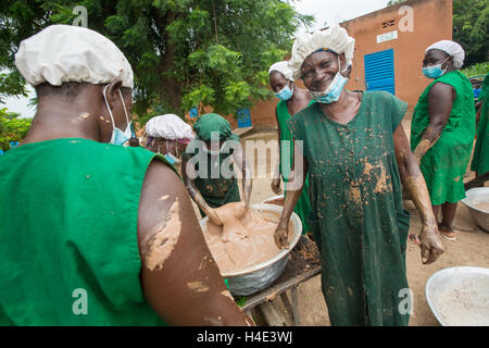
M 124 147 L 134 78 L 121 50 L 51 25 L 21 42 L 15 65 L 39 103 L 0 159 L 0 326 L 252 324 L 203 262 L 178 175 Z

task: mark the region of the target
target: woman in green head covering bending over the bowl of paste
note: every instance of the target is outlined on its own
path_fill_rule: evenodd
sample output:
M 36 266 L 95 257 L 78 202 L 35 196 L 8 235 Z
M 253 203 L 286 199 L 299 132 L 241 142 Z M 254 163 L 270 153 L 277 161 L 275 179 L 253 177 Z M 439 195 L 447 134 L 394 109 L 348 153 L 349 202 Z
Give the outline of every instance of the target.
M 213 208 L 241 201 L 233 161 L 242 172 L 246 208 L 250 204 L 252 181 L 244 150 L 229 122 L 218 114 L 201 115 L 193 129 L 196 139 L 183 156 L 181 174 L 201 215 L 221 225 Z

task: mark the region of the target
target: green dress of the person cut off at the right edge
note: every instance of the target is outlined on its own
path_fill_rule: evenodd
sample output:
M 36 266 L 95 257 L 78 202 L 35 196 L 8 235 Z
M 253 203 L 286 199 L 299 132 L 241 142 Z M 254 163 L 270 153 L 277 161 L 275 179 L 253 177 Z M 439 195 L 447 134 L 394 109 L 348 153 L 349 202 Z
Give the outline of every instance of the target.
M 477 175 L 489 172 L 489 74 L 484 78 L 482 91 L 478 101 L 482 101 L 480 119 L 477 126 L 477 141 L 474 148 L 474 158 L 471 170 Z

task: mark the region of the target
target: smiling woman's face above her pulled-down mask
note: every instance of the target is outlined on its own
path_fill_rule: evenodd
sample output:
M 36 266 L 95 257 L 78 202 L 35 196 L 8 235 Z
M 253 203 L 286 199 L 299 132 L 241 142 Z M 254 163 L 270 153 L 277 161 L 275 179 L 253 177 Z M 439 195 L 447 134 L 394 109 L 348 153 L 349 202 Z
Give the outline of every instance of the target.
M 344 54 L 340 54 L 341 66 Z M 311 91 L 323 91 L 328 88 L 339 71 L 338 55 L 333 52 L 321 51 L 309 55 L 301 66 L 301 78 Z

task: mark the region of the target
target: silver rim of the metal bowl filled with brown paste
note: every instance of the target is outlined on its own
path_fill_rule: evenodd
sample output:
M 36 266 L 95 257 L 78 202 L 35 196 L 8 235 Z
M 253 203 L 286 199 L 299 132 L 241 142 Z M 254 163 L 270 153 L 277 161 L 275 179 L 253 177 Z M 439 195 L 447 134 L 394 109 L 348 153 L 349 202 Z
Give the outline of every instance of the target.
M 264 207 L 265 206 L 265 207 Z M 276 211 L 276 212 L 281 212 L 281 210 L 284 208 L 276 206 L 276 204 L 265 204 L 265 203 L 255 203 L 255 204 L 250 204 L 250 208 L 254 208 L 256 210 L 261 209 L 261 208 L 269 208 L 269 210 Z M 209 217 L 204 217 L 200 221 L 200 224 L 206 222 L 209 220 Z M 297 232 L 296 232 L 296 236 L 292 238 L 292 241 L 290 243 L 290 247 L 289 249 L 283 249 L 280 250 L 280 252 L 278 252 L 275 257 L 273 257 L 269 260 L 266 260 L 262 263 L 258 263 L 244 269 L 239 269 L 233 272 L 227 272 L 227 273 L 222 273 L 223 277 L 228 277 L 228 276 L 239 276 L 239 275 L 244 275 L 244 274 L 249 274 L 252 272 L 258 272 L 261 271 L 272 264 L 274 264 L 275 262 L 277 262 L 278 260 L 283 259 L 284 257 L 286 257 L 287 254 L 289 254 L 290 251 L 292 251 L 292 249 L 296 247 L 297 243 L 299 241 L 299 238 L 302 235 L 302 223 L 301 220 L 299 217 L 299 215 L 296 212 L 292 212 L 292 215 L 290 216 L 290 220 L 294 220 L 297 223 Z M 202 225 L 201 225 L 202 226 Z

